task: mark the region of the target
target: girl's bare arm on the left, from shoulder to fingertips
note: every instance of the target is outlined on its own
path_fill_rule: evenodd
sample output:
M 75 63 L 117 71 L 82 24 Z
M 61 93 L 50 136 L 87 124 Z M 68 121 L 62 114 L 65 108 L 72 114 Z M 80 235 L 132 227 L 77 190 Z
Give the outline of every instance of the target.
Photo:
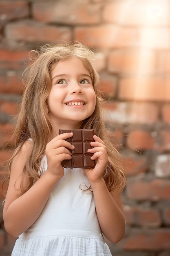
M 9 187 L 3 210 L 5 229 L 11 236 L 17 237 L 22 234 L 40 216 L 55 184 L 64 175 L 61 161 L 63 159 L 70 159 L 71 157 L 66 147 L 72 145 L 64 140 L 66 137 L 71 136 L 73 134 L 68 135 L 68 133 L 65 133 L 62 136 L 58 135 L 47 144 L 46 156 L 48 168 L 42 177 L 21 196 L 18 196 L 21 192 L 21 174 L 32 142 L 26 141 L 20 152 L 13 159 Z M 25 175 L 24 187 L 26 188 L 28 184 L 29 176 Z

